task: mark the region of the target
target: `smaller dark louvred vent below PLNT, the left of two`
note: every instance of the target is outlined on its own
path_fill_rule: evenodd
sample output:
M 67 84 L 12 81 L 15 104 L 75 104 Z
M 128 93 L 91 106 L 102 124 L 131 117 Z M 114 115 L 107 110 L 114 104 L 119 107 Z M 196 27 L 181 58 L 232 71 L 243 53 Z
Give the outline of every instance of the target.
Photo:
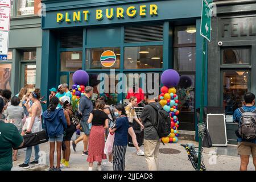
M 82 31 L 61 32 L 61 48 L 82 47 Z

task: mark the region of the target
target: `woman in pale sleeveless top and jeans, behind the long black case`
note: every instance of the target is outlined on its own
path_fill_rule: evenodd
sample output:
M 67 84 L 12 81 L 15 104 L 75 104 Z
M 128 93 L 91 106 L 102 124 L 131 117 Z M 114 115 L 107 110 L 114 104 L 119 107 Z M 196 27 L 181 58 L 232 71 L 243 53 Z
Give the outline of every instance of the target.
M 32 101 L 32 106 L 29 107 L 28 113 L 29 117 L 26 119 L 24 133 L 36 133 L 39 131 L 42 131 L 42 123 L 41 123 L 41 113 L 42 113 L 42 106 L 40 99 L 40 92 L 38 90 L 35 90 L 34 92 L 31 92 L 30 97 L 27 99 L 28 102 L 30 100 Z M 32 147 L 27 147 L 26 150 L 26 159 L 24 160 L 23 164 L 20 164 L 19 167 L 22 168 L 30 168 L 29 164 L 36 164 L 38 165 L 38 159 L 39 159 L 39 145 L 34 146 L 35 150 L 35 159 L 33 162 L 30 163 L 30 158 L 32 154 Z

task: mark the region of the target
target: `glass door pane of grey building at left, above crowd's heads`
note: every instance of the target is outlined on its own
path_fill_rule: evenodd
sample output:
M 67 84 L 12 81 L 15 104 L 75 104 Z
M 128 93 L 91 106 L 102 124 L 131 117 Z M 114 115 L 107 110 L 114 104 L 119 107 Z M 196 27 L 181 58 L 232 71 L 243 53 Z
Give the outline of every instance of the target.
M 28 92 L 33 92 L 36 87 L 36 64 L 22 63 L 20 87 L 26 87 Z

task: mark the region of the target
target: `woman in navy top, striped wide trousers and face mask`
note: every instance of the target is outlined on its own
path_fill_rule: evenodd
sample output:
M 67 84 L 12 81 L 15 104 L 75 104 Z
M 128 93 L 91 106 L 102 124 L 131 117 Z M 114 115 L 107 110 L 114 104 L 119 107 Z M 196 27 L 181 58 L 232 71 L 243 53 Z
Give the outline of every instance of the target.
M 129 121 L 122 104 L 115 106 L 115 117 L 117 122 L 109 129 L 110 133 L 115 133 L 113 146 L 113 169 L 114 171 L 125 171 L 125 153 L 128 144 Z

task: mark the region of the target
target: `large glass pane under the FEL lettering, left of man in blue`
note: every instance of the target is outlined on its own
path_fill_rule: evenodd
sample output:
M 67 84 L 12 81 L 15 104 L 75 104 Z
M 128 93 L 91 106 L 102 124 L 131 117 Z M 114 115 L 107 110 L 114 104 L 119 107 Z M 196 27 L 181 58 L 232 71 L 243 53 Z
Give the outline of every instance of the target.
M 226 115 L 233 115 L 242 106 L 243 96 L 249 89 L 249 78 L 250 71 L 246 70 L 223 72 L 223 106 Z

